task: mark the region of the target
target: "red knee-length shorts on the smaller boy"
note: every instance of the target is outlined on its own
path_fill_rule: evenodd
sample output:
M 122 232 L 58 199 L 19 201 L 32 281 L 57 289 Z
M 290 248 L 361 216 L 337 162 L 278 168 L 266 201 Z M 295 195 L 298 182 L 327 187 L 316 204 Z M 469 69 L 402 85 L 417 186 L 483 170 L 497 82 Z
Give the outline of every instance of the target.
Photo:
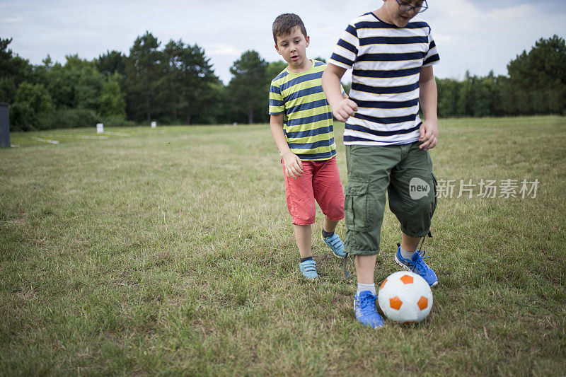
M 302 163 L 303 175 L 296 179 L 284 177 L 287 209 L 293 218 L 293 224 L 314 224 L 315 200 L 329 220 L 344 219 L 344 191 L 336 158 Z M 283 163 L 283 170 L 284 165 Z

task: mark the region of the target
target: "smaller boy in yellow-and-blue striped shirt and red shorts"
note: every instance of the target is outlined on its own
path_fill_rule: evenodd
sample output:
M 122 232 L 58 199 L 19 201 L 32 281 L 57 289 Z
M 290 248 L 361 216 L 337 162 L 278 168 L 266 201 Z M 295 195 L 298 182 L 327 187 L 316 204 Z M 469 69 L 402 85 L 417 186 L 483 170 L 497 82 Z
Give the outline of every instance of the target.
M 288 66 L 271 82 L 270 129 L 282 156 L 287 208 L 301 255 L 299 271 L 306 279 L 316 279 L 311 250 L 315 200 L 324 214 L 323 240 L 336 257 L 345 256 L 344 243 L 334 233 L 344 218 L 344 192 L 336 164 L 332 111 L 320 86 L 326 64 L 306 57 L 310 39 L 296 14 L 275 18 L 273 40 Z

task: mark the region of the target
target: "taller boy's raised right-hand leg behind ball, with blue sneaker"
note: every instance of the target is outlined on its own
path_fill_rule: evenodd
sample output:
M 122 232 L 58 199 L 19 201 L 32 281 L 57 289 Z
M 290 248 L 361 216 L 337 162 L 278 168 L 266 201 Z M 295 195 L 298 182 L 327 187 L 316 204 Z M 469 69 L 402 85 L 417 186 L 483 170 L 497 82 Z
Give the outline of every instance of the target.
M 418 143 L 402 146 L 401 149 L 403 160 L 391 171 L 388 189 L 389 207 L 400 221 L 402 232 L 402 244 L 395 253 L 395 262 L 420 274 L 429 285 L 436 286 L 436 274 L 417 250 L 420 239 L 429 232 L 437 206 L 432 161 L 427 151 L 418 148 Z

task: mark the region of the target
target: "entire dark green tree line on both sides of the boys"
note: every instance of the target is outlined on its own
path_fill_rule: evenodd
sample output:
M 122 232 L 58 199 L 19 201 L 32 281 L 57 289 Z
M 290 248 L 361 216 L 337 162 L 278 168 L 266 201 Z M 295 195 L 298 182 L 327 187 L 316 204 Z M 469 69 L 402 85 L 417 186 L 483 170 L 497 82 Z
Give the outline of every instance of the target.
M 107 51 L 88 61 L 30 64 L 0 38 L 0 102 L 8 103 L 13 130 L 125 126 L 231 124 L 268 121 L 270 81 L 287 65 L 266 62 L 248 50 L 233 62 L 224 84 L 204 49 L 183 40 L 161 45 L 146 32 L 129 54 Z M 320 59 L 320 57 L 316 58 Z M 321 59 L 322 60 L 322 59 Z M 541 38 L 507 65 L 507 75 L 437 79 L 439 116 L 566 115 L 566 44 Z M 345 85 L 348 91 L 349 85 Z

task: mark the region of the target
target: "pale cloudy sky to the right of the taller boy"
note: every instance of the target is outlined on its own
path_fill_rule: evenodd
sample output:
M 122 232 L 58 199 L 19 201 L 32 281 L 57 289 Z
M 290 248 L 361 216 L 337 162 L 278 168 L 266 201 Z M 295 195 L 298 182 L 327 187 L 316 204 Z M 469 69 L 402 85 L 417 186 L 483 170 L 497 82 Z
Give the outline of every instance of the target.
M 441 77 L 462 79 L 489 71 L 507 74 L 507 64 L 536 40 L 554 33 L 564 35 L 562 14 L 548 14 L 532 4 L 499 2 L 497 8 L 480 8 L 470 0 L 439 0 L 430 23 L 441 62 L 434 67 Z

